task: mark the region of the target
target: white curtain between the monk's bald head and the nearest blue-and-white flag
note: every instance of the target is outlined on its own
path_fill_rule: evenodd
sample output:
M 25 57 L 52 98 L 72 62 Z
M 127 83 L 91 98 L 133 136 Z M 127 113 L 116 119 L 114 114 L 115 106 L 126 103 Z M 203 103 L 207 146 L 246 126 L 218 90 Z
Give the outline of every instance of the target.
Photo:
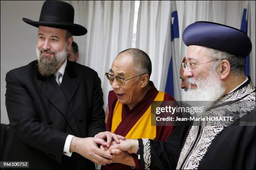
M 152 62 L 150 80 L 157 89 L 163 78 L 164 45 L 169 26 L 170 1 L 140 1 L 137 23 L 136 48 L 145 51 Z M 167 37 L 168 38 L 168 37 Z M 171 37 L 169 37 L 169 40 Z M 168 63 L 169 64 L 169 63 Z

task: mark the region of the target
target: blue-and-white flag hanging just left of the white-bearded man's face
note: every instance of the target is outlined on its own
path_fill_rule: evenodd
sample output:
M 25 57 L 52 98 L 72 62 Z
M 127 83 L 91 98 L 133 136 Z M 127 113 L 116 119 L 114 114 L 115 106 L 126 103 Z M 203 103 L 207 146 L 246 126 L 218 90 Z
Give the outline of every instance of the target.
M 173 2 L 173 1 L 172 1 Z M 171 45 L 167 48 L 170 48 L 171 54 L 169 55 L 169 67 L 165 84 L 165 92 L 169 93 L 176 100 L 180 99 L 179 93 L 179 68 L 180 68 L 180 60 L 179 60 L 179 21 L 178 21 L 178 13 L 176 2 L 174 1 L 172 4 L 171 11 L 171 20 L 170 20 L 170 37 Z M 178 89 L 177 89 L 178 88 Z M 176 89 L 176 90 L 175 90 Z

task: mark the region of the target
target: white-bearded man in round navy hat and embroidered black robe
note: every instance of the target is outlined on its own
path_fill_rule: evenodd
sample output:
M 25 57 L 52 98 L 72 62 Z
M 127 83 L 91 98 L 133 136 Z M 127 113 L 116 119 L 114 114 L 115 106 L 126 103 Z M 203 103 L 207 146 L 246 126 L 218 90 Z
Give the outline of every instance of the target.
M 187 100 L 210 101 L 200 115 L 205 120 L 178 126 L 166 142 L 113 142 L 110 153 L 137 153 L 143 169 L 255 169 L 256 90 L 244 75 L 251 40 L 236 28 L 196 22 L 184 30 L 183 41 Z

